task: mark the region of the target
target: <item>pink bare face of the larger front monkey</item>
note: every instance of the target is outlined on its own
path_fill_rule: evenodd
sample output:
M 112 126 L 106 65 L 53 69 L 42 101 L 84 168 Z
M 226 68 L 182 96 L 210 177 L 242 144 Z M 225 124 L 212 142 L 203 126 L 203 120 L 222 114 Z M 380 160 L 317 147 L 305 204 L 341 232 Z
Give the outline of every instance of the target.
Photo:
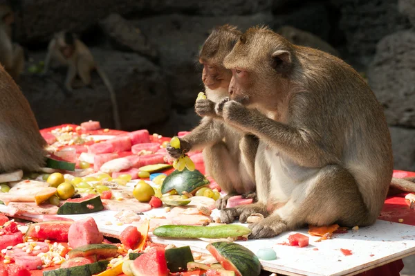
M 230 99 L 241 104 L 249 105 L 252 103 L 252 97 L 248 93 L 250 88 L 250 73 L 240 69 L 232 69 L 232 79 L 229 84 Z

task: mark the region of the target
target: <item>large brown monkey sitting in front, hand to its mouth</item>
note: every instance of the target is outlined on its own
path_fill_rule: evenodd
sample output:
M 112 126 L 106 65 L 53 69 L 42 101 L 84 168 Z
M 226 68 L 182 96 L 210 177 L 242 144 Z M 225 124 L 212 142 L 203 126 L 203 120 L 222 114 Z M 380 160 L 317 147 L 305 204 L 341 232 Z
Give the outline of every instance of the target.
M 259 138 L 259 202 L 222 210 L 221 221 L 269 214 L 250 226 L 251 238 L 306 224 L 374 223 L 393 162 L 382 107 L 365 80 L 341 59 L 268 28 L 248 29 L 224 65 L 232 69 L 232 100 L 216 104 L 216 113 Z

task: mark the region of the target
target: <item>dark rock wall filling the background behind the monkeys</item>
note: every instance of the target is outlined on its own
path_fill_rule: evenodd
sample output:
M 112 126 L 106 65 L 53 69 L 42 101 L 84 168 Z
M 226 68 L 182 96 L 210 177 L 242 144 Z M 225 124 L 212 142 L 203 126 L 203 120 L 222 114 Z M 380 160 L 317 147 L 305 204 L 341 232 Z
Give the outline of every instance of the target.
M 200 120 L 193 110 L 203 89 L 197 55 L 211 28 L 230 23 L 242 30 L 257 24 L 306 30 L 367 74 L 391 126 L 396 168 L 415 169 L 412 0 L 8 2 L 16 10 L 13 36 L 30 58 L 26 69 L 44 59 L 54 32 L 73 31 L 107 72 L 122 128 L 148 128 L 164 135 L 191 129 Z M 109 93 L 98 75 L 93 75 L 92 88 L 66 93 L 65 68 L 53 68 L 46 77 L 30 72 L 26 70 L 19 85 L 40 127 L 90 119 L 113 127 Z

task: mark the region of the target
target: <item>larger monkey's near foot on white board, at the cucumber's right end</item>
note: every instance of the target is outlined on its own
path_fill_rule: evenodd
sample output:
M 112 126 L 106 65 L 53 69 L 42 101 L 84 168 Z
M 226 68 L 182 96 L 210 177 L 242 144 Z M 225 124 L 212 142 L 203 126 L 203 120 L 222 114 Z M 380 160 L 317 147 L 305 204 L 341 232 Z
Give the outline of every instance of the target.
M 248 226 L 252 231 L 248 239 L 264 239 L 272 238 L 288 230 L 285 221 L 282 221 L 278 216 L 270 216 L 259 223 L 253 223 Z

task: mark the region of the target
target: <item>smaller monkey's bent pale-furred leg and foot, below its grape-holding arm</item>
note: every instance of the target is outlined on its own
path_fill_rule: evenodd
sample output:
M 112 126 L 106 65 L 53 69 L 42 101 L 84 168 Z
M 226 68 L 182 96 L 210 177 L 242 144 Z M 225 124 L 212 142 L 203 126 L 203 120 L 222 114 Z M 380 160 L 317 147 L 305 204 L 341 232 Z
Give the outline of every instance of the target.
M 216 208 L 221 210 L 226 207 L 230 196 L 241 192 L 243 188 L 240 187 L 243 181 L 239 173 L 239 166 L 235 160 L 232 160 L 224 142 L 217 142 L 211 147 L 205 147 L 203 157 L 206 171 L 223 191 L 228 192 L 227 196 L 216 201 Z

